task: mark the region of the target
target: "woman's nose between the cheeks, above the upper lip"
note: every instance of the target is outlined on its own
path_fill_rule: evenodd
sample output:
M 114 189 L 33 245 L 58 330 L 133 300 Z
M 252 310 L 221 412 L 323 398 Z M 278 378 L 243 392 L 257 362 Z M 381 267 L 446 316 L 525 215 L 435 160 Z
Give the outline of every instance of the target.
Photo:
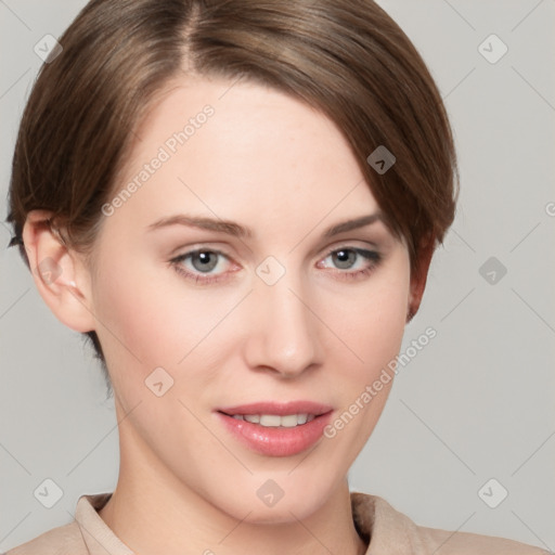
M 245 351 L 250 369 L 291 378 L 322 363 L 314 299 L 299 280 L 287 272 L 273 285 L 258 282 L 250 297 Z

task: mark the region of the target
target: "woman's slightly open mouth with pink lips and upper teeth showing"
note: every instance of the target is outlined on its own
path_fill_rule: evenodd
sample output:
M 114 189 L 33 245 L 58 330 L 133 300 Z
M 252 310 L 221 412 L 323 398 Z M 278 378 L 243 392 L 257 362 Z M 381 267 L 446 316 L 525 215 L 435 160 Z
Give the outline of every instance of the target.
M 231 437 L 267 456 L 291 456 L 312 447 L 331 420 L 330 405 L 311 401 L 261 402 L 216 411 Z

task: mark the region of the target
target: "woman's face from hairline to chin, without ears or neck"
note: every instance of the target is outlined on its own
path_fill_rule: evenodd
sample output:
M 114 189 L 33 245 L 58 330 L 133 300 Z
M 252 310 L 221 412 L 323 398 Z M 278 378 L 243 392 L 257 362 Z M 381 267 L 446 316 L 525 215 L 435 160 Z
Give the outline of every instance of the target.
M 409 255 L 331 120 L 230 86 L 178 82 L 141 126 L 90 302 L 145 478 L 286 521 L 345 482 L 382 413 L 391 379 L 367 386 L 400 349 Z

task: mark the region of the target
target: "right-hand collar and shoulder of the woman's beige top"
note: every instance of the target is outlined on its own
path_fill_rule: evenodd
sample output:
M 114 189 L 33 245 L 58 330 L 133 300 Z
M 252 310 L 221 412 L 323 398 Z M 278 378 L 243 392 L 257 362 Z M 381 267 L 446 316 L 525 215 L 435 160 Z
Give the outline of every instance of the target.
M 417 526 L 377 495 L 351 492 L 352 516 L 372 555 L 546 555 L 504 538 Z

